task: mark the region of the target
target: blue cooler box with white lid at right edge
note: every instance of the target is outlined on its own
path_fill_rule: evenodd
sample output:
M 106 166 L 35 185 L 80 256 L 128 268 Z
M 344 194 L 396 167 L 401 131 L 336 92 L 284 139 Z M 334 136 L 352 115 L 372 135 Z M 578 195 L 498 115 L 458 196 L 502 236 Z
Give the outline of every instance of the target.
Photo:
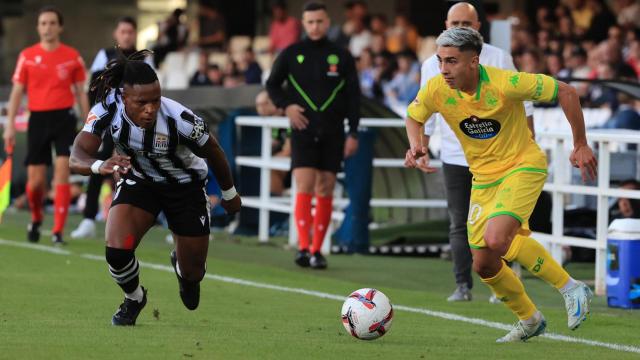
M 607 304 L 640 308 L 640 219 L 617 219 L 607 240 Z

